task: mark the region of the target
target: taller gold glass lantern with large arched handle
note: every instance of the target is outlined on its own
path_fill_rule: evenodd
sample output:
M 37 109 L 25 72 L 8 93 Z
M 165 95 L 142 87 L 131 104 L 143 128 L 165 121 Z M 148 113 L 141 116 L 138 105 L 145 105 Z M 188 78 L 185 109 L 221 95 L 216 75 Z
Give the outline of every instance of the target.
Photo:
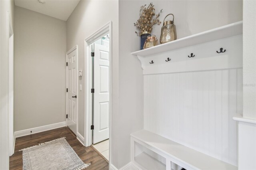
M 169 15 L 173 16 L 172 21 L 165 21 L 165 18 Z M 161 36 L 160 36 L 161 44 L 166 42 L 171 42 L 177 39 L 176 26 L 174 25 L 174 15 L 168 14 L 167 16 L 164 18 L 164 24 L 161 28 Z

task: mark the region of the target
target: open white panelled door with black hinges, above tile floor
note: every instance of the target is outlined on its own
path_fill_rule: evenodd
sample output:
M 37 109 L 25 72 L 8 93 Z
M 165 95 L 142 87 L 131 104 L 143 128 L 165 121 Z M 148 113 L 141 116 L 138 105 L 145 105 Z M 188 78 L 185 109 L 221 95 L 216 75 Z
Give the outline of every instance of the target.
M 94 44 L 94 144 L 109 138 L 109 74 L 109 47 Z

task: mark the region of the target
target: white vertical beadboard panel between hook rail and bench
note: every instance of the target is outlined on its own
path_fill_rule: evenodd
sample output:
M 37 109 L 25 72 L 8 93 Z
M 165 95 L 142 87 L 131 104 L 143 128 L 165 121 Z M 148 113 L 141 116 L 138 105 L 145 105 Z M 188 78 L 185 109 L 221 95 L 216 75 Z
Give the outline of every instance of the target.
M 242 69 L 144 75 L 144 129 L 237 166 Z

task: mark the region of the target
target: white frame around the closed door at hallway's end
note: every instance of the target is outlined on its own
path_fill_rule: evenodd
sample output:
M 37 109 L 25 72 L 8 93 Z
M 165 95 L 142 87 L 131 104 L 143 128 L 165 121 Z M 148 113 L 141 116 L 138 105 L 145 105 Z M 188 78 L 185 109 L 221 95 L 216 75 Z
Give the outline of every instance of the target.
M 79 99 L 79 95 L 78 95 L 78 46 L 74 46 L 73 48 L 71 48 L 70 50 L 68 50 L 66 52 L 66 63 L 68 62 L 68 54 L 70 54 L 71 52 L 73 52 L 74 50 L 76 50 L 76 136 L 77 136 L 77 132 L 78 132 L 78 99 Z M 66 65 L 66 89 L 68 88 L 68 67 Z M 68 114 L 68 93 L 66 92 L 66 115 Z M 65 115 L 65 118 L 66 118 Z M 68 119 L 66 118 L 66 127 L 68 126 Z

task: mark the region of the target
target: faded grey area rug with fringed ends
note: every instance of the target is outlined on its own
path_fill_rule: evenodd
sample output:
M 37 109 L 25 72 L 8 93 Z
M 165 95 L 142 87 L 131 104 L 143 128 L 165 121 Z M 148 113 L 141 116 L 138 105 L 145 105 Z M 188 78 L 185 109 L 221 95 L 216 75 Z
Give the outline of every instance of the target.
M 82 170 L 90 165 L 84 164 L 65 137 L 22 151 L 23 170 Z

